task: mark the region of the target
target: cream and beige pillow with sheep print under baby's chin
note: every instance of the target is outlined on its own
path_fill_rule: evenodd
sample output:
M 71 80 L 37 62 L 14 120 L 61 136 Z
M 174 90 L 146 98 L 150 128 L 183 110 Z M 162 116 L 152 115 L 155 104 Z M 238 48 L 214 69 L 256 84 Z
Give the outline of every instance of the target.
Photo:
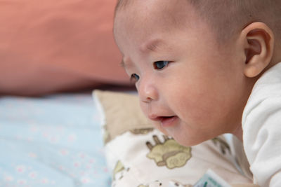
M 231 149 L 223 136 L 197 146 L 181 146 L 143 116 L 136 95 L 95 90 L 93 98 L 100 109 L 112 186 L 194 184 L 207 169 L 233 186 L 251 185 L 230 161 Z

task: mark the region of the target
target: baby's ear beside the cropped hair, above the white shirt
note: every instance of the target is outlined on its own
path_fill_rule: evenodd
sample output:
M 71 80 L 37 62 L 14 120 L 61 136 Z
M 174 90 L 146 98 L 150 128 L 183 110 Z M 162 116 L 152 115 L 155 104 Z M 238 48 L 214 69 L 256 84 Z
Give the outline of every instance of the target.
M 274 34 L 263 22 L 253 22 L 242 30 L 240 36 L 246 57 L 244 75 L 258 76 L 273 57 Z

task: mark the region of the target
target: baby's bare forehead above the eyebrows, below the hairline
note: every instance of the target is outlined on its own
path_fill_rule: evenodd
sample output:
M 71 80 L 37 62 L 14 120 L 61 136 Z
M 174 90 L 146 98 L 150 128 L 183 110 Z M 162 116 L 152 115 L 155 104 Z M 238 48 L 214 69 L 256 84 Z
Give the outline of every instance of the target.
M 147 48 L 145 44 L 153 39 L 167 39 L 179 33 L 194 34 L 199 27 L 205 29 L 198 20 L 200 18 L 197 19 L 195 10 L 186 2 L 133 0 L 118 9 L 114 34 L 122 54 L 128 53 L 129 48 Z

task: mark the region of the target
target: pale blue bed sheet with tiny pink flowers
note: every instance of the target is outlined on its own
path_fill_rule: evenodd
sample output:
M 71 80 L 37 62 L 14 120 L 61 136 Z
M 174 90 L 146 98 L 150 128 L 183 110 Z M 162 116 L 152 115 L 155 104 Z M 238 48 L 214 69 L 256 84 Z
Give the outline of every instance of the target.
M 0 97 L 0 186 L 110 186 L 91 92 Z

